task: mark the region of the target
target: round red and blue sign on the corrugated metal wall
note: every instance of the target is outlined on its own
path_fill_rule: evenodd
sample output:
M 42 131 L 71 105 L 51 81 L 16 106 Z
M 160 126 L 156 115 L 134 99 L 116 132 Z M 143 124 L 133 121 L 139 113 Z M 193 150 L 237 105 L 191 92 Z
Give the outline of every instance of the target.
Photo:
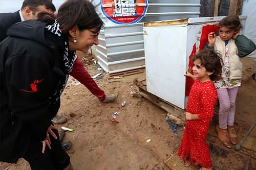
M 119 25 L 138 22 L 146 14 L 147 6 L 147 0 L 101 0 L 102 13 Z

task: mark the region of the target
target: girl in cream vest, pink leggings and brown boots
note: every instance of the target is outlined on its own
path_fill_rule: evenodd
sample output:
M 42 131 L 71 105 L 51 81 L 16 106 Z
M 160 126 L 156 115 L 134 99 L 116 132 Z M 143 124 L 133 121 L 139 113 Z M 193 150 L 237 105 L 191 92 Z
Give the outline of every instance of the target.
M 232 148 L 232 144 L 238 143 L 233 124 L 238 87 L 241 86 L 242 78 L 240 57 L 250 54 L 256 46 L 245 36 L 239 35 L 242 26 L 238 16 L 223 18 L 218 27 L 219 36 L 210 33 L 206 48 L 218 51 L 224 62 L 222 79 L 215 82 L 220 103 L 219 124 L 216 128 L 221 142 L 227 148 Z

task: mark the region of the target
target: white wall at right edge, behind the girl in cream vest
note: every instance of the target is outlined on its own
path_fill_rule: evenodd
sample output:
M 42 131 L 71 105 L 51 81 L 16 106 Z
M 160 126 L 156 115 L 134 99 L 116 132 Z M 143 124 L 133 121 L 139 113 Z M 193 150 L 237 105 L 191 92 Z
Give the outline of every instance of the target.
M 243 0 L 241 15 L 247 15 L 244 35 L 256 43 L 256 0 Z M 256 52 L 248 57 L 256 58 Z

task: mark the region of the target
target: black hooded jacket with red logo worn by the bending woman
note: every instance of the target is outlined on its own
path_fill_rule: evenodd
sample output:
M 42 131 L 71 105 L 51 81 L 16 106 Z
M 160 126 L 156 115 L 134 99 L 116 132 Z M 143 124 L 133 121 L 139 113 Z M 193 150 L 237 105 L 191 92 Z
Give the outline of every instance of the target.
M 63 39 L 45 31 L 46 23 L 27 20 L 13 25 L 1 46 L 1 159 L 16 163 L 31 134 L 46 139 L 60 102 L 52 101 L 65 82 Z M 65 85 L 65 84 L 64 84 Z

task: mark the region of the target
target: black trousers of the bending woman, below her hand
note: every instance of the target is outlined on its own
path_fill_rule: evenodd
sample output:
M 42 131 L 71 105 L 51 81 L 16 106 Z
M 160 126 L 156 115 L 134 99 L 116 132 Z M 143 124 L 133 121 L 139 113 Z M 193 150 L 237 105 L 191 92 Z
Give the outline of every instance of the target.
M 58 131 L 53 131 L 57 139 L 50 135 L 52 149 L 46 145 L 44 154 L 42 154 L 42 142 L 32 135 L 29 147 L 23 156 L 32 170 L 63 170 L 70 164 L 70 157 L 60 144 Z

